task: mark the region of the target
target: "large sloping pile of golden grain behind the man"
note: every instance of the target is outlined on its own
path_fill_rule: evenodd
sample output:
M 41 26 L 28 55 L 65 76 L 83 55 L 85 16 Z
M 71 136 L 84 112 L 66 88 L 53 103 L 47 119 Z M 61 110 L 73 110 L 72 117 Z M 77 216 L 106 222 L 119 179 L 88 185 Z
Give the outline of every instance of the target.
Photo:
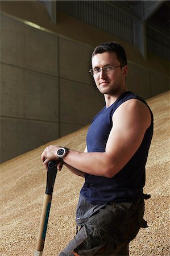
M 169 251 L 169 92 L 148 100 L 155 117 L 154 138 L 148 156 L 145 218 L 130 244 L 130 255 L 170 255 Z M 34 255 L 45 192 L 46 171 L 40 154 L 49 144 L 84 150 L 88 126 L 1 164 L 0 255 Z M 74 236 L 74 210 L 82 177 L 65 168 L 58 172 L 53 192 L 44 256 L 57 256 Z

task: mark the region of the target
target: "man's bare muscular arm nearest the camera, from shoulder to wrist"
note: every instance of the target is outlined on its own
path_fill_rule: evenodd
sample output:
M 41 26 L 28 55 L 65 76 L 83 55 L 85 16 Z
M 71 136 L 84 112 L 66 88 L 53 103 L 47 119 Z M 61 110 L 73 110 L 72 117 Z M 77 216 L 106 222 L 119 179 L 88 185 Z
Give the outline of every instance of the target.
M 113 115 L 113 127 L 105 152 L 69 150 L 64 162 L 87 174 L 113 177 L 138 150 L 150 123 L 151 114 L 147 106 L 139 100 L 128 100 Z M 56 152 L 57 148 L 53 150 Z

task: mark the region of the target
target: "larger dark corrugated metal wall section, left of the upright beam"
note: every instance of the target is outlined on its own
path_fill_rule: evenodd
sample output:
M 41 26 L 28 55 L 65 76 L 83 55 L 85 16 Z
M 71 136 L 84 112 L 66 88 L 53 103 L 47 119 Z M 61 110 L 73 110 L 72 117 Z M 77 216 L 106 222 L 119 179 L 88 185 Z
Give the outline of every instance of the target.
M 114 5 L 109 1 L 57 1 L 57 9 L 63 13 L 133 43 L 133 19 L 126 14 L 132 10 L 121 1 L 114 1 Z

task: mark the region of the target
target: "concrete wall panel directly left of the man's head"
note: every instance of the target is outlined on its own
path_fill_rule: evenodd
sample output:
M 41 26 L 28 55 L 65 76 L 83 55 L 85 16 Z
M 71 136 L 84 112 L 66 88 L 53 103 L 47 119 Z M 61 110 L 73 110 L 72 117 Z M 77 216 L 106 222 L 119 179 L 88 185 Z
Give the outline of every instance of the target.
M 63 38 L 60 38 L 59 42 L 60 77 L 92 84 L 92 77 L 89 73 L 92 48 Z

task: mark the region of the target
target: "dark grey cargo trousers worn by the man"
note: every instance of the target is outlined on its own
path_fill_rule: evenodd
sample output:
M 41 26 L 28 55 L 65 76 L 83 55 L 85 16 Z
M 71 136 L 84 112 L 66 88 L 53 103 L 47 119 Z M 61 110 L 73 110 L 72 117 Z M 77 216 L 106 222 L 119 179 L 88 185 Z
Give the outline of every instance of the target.
M 76 236 L 59 256 L 128 255 L 128 243 L 141 226 L 146 227 L 143 214 L 142 198 L 132 203 L 102 205 L 80 224 Z

